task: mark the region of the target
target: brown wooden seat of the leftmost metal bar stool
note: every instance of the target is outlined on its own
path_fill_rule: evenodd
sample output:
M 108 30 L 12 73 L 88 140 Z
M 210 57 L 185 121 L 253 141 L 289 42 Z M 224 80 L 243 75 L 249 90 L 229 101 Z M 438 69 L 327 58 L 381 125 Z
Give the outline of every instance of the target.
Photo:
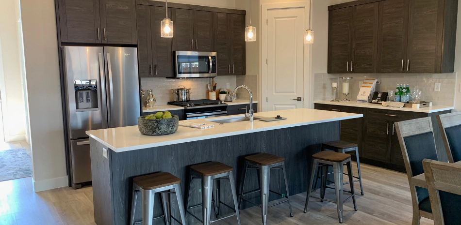
M 173 176 L 171 173 L 160 172 L 141 177 L 135 177 L 133 182 L 143 190 L 154 190 L 157 188 L 181 183 L 181 179 Z

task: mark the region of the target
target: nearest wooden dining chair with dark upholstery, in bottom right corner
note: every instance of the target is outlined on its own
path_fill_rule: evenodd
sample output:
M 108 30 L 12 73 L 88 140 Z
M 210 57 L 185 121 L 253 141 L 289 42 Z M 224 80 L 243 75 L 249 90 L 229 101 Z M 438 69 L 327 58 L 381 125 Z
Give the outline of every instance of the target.
M 432 203 L 434 225 L 459 225 L 461 165 L 425 159 L 423 168 Z

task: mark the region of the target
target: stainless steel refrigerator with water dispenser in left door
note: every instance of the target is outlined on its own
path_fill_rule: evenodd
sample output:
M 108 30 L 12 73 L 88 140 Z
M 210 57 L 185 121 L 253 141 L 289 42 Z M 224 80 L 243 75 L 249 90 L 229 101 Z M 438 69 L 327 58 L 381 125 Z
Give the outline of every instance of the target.
M 91 181 L 87 130 L 133 126 L 141 116 L 137 50 L 63 47 L 71 184 Z

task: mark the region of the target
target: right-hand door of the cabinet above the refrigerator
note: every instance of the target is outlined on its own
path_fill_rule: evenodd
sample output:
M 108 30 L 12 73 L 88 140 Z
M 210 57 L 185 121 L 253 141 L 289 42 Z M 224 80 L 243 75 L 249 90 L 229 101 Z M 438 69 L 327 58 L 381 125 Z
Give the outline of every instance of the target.
M 137 44 L 136 1 L 100 0 L 102 43 Z

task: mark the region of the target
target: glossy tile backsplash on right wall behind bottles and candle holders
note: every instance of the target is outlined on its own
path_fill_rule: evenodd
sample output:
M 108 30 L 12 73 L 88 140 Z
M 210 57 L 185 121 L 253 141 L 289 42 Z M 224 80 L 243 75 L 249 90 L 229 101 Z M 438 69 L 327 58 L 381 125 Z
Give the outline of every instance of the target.
M 357 100 L 359 82 L 365 78 L 381 80 L 377 85 L 377 91 L 395 90 L 397 84 L 409 84 L 410 87 L 418 86 L 423 91 L 422 100 L 432 102 L 433 105 L 454 105 L 456 90 L 456 74 L 315 74 L 314 75 L 314 101 L 333 99 L 331 83 L 338 82 L 339 77 L 353 77 L 350 81 L 350 94 L 347 96 L 351 101 Z M 435 83 L 441 83 L 441 91 L 434 91 Z M 338 88 L 337 99 L 343 99 L 341 88 Z

